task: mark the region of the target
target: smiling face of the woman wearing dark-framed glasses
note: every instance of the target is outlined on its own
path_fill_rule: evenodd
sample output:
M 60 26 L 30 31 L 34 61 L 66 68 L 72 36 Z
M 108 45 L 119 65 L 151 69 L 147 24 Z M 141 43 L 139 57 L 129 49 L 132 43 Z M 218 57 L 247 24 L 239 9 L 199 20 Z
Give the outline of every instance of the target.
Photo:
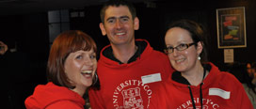
M 173 27 L 168 30 L 165 37 L 167 47 L 176 47 L 180 44 L 193 43 L 190 33 L 180 27 Z M 192 45 L 183 51 L 177 51 L 168 54 L 169 61 L 172 67 L 178 71 L 188 71 L 195 68 L 196 65 L 200 65 L 198 56 L 201 53 L 202 46 L 198 42 L 198 45 Z

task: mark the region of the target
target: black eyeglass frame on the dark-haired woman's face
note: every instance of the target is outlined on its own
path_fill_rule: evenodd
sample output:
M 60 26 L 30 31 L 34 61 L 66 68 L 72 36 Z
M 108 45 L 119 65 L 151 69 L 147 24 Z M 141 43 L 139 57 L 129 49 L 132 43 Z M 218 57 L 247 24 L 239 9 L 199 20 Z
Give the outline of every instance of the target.
M 176 47 L 166 47 L 165 49 L 164 49 L 164 52 L 165 52 L 165 54 L 171 54 L 171 53 L 173 53 L 174 52 L 174 49 L 176 49 L 177 51 L 184 51 L 184 50 L 186 50 L 186 49 L 188 49 L 190 46 L 192 46 L 192 45 L 195 45 L 195 44 L 197 44 L 196 42 L 193 42 L 193 43 L 182 43 L 182 44 L 179 44 L 178 46 L 176 46 Z M 185 45 L 185 47 L 184 48 L 182 48 L 182 49 L 179 49 L 179 47 L 182 47 L 182 45 Z M 169 52 L 168 50 L 172 50 L 171 52 Z

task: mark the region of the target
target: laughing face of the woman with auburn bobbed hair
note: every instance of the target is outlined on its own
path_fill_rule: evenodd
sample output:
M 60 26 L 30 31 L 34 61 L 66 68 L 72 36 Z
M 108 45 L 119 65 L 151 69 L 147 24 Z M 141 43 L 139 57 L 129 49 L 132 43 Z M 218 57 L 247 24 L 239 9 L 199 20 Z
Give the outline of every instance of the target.
M 76 88 L 91 86 L 96 68 L 97 60 L 93 49 L 71 53 L 64 63 L 65 73 Z

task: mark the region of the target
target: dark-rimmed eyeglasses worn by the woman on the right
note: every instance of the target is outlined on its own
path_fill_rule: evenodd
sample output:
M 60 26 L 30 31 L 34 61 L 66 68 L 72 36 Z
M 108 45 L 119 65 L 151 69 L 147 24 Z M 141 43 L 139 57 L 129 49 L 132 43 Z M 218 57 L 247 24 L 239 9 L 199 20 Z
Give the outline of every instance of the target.
M 171 54 L 174 52 L 174 49 L 176 49 L 177 51 L 184 51 L 185 49 L 187 49 L 188 47 L 190 47 L 194 44 L 196 44 L 196 43 L 187 43 L 187 44 L 182 43 L 176 47 L 167 47 L 166 49 L 164 49 L 164 52 L 166 54 Z

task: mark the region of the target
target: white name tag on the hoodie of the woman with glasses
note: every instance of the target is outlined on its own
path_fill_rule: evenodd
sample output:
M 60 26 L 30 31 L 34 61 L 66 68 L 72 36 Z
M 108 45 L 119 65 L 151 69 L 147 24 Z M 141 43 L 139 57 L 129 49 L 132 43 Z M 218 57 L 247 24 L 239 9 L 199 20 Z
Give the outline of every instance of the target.
M 225 100 L 228 100 L 231 97 L 231 92 L 220 88 L 209 88 L 209 95 L 219 96 Z

